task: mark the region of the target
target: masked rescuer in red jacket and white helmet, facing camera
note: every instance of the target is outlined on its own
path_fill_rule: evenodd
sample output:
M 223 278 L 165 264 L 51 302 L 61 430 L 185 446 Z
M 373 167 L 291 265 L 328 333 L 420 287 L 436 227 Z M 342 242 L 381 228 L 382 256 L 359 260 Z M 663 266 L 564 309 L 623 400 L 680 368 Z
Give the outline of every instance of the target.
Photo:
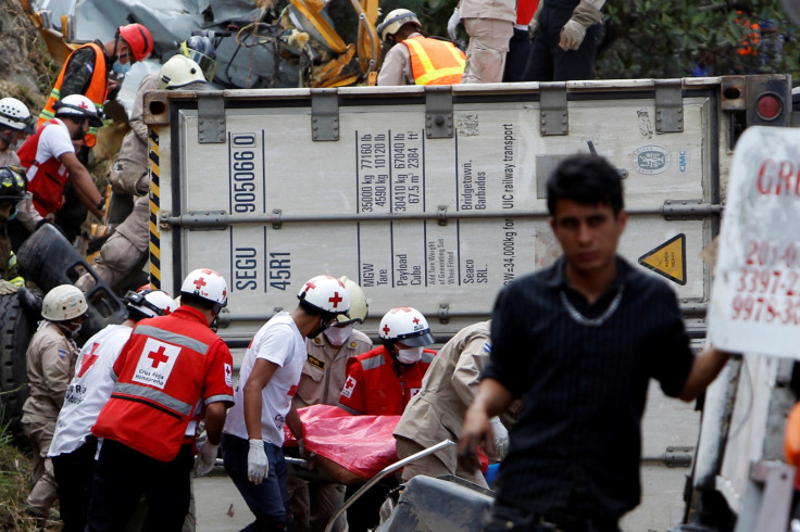
M 436 352 L 425 316 L 410 306 L 386 313 L 378 329 L 382 346 L 347 362 L 339 406 L 350 414 L 400 416 L 422 388 Z

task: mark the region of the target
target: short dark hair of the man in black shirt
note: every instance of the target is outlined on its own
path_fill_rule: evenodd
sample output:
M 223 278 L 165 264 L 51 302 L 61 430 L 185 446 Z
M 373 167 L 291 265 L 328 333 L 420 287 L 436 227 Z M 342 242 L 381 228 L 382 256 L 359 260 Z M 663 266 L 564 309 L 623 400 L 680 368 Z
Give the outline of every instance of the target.
M 600 155 L 571 155 L 547 180 L 550 216 L 555 216 L 555 202 L 559 200 L 572 200 L 582 205 L 609 205 L 616 216 L 625 206 L 622 178 L 616 168 Z

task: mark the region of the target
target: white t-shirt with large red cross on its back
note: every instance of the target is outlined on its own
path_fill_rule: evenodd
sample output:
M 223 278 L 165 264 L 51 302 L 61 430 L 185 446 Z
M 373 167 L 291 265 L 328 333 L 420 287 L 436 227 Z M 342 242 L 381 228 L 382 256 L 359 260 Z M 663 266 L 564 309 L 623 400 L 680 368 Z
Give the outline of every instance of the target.
M 75 363 L 75 377 L 66 389 L 48 456 L 72 453 L 91 434 L 91 427 L 114 391 L 111 368 L 132 331 L 124 325 L 110 325 L 91 337 L 80 350 Z

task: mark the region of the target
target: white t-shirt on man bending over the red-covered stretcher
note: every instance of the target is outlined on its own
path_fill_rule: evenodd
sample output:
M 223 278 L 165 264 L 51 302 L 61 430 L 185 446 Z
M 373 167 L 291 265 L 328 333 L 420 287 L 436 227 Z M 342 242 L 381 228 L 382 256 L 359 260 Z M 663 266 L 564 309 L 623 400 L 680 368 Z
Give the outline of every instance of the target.
M 264 324 L 250 343 L 239 370 L 239 381 L 234 390 L 236 404 L 228 410 L 223 429 L 228 434 L 248 439 L 245 425 L 243 388 L 257 358 L 264 358 L 279 367 L 261 392 L 261 435 L 265 442 L 282 446 L 284 425 L 291 407 L 291 400 L 300 382 L 303 364 L 308 357 L 305 339 L 291 315 L 280 312 Z

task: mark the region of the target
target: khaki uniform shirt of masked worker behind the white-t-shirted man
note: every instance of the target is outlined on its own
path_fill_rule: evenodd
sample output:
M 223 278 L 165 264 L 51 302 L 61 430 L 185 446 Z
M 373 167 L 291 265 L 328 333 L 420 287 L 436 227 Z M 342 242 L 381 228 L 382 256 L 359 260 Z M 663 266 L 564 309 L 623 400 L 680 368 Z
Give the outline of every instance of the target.
M 404 48 L 404 47 L 403 47 Z M 295 395 L 295 406 L 302 408 L 317 404 L 338 405 L 345 388 L 345 365 L 351 356 L 372 350 L 372 340 L 353 329 L 352 334 L 338 353 L 334 351 L 325 333 L 305 341 L 309 356 Z

